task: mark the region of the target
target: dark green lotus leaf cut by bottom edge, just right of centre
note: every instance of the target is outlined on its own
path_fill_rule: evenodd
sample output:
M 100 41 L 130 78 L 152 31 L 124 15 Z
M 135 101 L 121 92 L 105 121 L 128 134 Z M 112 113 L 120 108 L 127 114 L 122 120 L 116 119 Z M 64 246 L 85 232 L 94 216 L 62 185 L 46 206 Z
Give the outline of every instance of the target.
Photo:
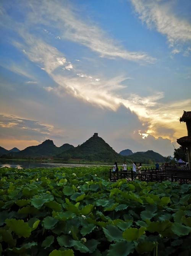
M 134 243 L 125 240 L 117 241 L 115 244 L 111 244 L 108 250 L 107 256 L 126 256 L 134 252 Z

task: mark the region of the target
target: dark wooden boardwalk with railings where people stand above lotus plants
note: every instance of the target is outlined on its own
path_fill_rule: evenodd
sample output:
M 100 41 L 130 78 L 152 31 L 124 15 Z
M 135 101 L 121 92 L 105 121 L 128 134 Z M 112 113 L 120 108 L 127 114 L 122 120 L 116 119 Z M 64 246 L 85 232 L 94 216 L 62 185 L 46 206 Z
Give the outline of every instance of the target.
M 141 170 L 141 173 L 127 171 L 118 171 L 112 172 L 110 170 L 110 181 L 117 181 L 122 178 L 126 178 L 127 181 L 132 181 L 138 178 L 141 181 L 145 182 L 163 182 L 168 180 L 170 182 L 178 182 L 180 184 L 191 184 L 191 171 L 187 172 L 173 172 L 169 173 L 166 170 L 154 170 L 154 169 L 144 169 Z

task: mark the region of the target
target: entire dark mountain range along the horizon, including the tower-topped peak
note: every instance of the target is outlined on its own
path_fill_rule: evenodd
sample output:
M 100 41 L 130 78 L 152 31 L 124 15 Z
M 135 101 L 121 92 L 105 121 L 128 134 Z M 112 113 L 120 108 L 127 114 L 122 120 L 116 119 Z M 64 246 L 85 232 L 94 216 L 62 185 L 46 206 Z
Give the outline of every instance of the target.
M 57 147 L 52 140 L 45 140 L 37 146 L 30 146 L 26 149 L 19 150 L 13 148 L 6 150 L 0 147 L 1 157 L 7 158 L 53 158 L 53 159 L 79 159 L 87 161 L 100 161 L 100 162 L 130 162 L 134 160 L 136 162 L 150 163 L 150 162 L 164 162 L 165 157 L 162 155 L 148 150 L 147 152 L 133 153 L 131 150 L 122 150 L 120 154 L 110 147 L 101 137 L 95 133 L 91 138 L 86 140 L 78 147 L 74 147 L 68 143 L 63 144 L 61 147 Z M 150 161 L 150 162 L 148 162 Z

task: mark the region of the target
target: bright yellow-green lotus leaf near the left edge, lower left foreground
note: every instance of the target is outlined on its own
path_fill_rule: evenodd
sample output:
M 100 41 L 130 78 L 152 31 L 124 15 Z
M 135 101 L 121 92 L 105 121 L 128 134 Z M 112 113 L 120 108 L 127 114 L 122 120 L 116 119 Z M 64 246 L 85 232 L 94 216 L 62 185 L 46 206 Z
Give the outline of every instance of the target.
M 28 223 L 24 223 L 24 220 L 6 219 L 5 223 L 19 237 L 27 238 L 31 235 L 32 229 Z

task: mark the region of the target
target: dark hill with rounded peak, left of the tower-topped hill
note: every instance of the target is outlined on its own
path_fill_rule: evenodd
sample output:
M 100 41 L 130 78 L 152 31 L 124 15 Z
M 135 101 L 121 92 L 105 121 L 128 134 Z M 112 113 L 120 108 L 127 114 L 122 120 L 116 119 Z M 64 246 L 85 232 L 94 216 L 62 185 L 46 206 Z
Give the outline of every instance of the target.
M 30 146 L 14 153 L 15 157 L 50 157 L 61 153 L 62 149 L 55 146 L 52 140 L 45 140 L 37 146 Z

